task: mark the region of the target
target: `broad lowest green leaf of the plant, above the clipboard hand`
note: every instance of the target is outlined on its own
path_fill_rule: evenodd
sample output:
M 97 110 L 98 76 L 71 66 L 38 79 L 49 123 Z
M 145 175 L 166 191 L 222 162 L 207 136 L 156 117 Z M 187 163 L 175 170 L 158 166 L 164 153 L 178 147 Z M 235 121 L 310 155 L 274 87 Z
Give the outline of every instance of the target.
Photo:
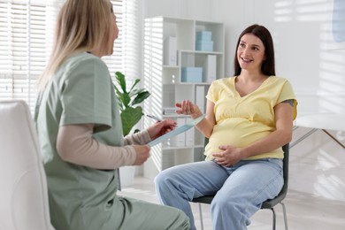
M 121 112 L 120 116 L 122 120 L 123 134 L 126 136 L 131 132 L 133 126 L 135 126 L 136 123 L 138 123 L 139 120 L 142 119 L 142 107 L 127 107 L 124 111 Z

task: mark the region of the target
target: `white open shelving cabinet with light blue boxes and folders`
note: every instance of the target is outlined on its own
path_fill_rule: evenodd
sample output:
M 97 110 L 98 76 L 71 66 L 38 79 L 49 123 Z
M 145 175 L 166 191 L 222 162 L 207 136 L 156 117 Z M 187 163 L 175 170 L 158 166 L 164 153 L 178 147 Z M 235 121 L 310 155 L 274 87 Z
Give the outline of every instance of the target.
M 179 125 L 189 117 L 177 115 L 174 103 L 188 99 L 206 108 L 211 81 L 224 76 L 224 25 L 219 22 L 155 17 L 144 24 L 144 87 L 151 96 L 144 112 Z M 154 122 L 144 119 L 147 127 Z M 196 128 L 151 149 L 145 176 L 173 165 L 203 160 L 203 134 Z M 152 165 L 156 173 L 152 172 Z

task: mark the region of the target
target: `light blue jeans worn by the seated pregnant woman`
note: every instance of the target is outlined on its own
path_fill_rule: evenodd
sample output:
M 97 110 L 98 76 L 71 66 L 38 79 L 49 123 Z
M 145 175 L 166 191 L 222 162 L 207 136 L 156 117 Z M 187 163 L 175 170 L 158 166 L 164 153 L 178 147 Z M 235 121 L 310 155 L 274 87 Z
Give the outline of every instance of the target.
M 184 211 L 193 230 L 189 204 L 193 198 L 216 194 L 211 203 L 212 228 L 242 230 L 265 200 L 279 194 L 283 183 L 282 160 L 274 158 L 243 160 L 231 167 L 213 161 L 177 165 L 155 179 L 160 202 Z

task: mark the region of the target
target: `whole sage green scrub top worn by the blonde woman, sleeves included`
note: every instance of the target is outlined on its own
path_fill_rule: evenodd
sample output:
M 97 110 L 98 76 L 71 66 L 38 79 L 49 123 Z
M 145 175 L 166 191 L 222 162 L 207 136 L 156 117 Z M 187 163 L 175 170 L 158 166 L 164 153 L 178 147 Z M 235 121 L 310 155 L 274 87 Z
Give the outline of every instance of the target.
M 116 229 L 123 218 L 114 215 L 123 211 L 121 205 L 116 205 L 117 171 L 67 163 L 56 149 L 59 126 L 88 123 L 95 124 L 94 138 L 98 142 L 123 146 L 118 103 L 102 59 L 88 53 L 67 58 L 44 92 L 39 93 L 35 123 L 53 225 L 64 230 Z

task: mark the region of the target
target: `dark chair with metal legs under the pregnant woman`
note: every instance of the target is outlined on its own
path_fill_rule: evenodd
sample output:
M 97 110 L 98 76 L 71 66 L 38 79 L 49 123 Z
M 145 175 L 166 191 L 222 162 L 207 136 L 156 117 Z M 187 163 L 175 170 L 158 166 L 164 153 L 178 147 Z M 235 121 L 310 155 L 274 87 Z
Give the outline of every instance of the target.
M 285 225 L 285 230 L 288 230 L 288 218 L 287 218 L 287 211 L 285 208 L 285 204 L 283 203 L 283 200 L 285 196 L 287 196 L 288 193 L 288 152 L 289 152 L 289 144 L 285 144 L 282 147 L 284 151 L 284 159 L 283 159 L 283 177 L 284 177 L 284 185 L 283 188 L 281 188 L 280 193 L 278 196 L 274 197 L 273 199 L 265 201 L 261 205 L 261 209 L 269 209 L 272 211 L 272 229 L 276 229 L 276 213 L 274 211 L 274 207 L 276 204 L 280 203 L 282 210 L 283 210 L 283 215 L 284 215 L 284 225 Z M 192 200 L 193 203 L 198 203 L 199 204 L 199 213 L 200 213 L 200 224 L 201 228 L 203 230 L 203 214 L 202 214 L 202 203 L 207 203 L 210 204 L 212 202 L 214 196 L 201 196 L 197 197 Z

